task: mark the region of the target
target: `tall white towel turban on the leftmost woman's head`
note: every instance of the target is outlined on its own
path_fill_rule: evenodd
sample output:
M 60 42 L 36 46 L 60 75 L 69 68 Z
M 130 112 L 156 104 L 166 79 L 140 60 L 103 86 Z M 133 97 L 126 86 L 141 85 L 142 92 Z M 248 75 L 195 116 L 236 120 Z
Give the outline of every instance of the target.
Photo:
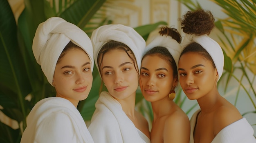
M 52 17 L 40 23 L 36 29 L 32 45 L 33 53 L 51 85 L 57 60 L 70 41 L 87 53 L 93 70 L 92 43 L 88 35 L 79 27 L 62 18 Z

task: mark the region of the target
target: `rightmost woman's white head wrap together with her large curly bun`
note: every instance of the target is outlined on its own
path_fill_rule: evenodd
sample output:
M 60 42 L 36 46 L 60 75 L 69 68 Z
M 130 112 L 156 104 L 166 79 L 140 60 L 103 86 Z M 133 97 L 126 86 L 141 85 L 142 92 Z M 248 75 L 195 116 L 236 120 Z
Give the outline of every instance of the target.
M 191 42 L 200 44 L 213 59 L 219 80 L 224 68 L 224 55 L 220 45 L 208 36 L 214 28 L 214 20 L 211 11 L 203 9 L 188 11 L 183 15 L 181 25 L 186 35 L 182 42 L 182 49 Z

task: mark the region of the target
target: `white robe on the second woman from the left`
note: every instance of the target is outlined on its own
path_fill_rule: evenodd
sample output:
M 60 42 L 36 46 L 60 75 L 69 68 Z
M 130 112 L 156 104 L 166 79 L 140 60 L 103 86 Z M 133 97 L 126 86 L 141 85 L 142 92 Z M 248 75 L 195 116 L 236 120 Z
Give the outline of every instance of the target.
M 150 143 L 108 92 L 101 92 L 88 128 L 95 143 Z

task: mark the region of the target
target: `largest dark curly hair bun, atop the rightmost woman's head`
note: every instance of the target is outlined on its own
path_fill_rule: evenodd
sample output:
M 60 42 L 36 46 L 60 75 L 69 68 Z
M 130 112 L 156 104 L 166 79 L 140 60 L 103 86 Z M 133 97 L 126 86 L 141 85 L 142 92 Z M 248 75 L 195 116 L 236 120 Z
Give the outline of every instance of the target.
M 211 11 L 199 9 L 196 11 L 188 11 L 180 19 L 182 30 L 187 34 L 209 35 L 214 28 L 214 18 Z

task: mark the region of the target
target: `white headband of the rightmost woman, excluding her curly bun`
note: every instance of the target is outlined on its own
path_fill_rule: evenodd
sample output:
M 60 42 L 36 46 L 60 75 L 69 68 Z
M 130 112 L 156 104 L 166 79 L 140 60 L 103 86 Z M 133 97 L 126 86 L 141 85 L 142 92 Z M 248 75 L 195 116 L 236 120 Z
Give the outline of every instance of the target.
M 184 49 L 185 46 L 187 46 L 191 42 L 196 42 L 200 44 L 209 53 L 216 66 L 219 75 L 219 80 L 224 68 L 224 55 L 220 45 L 216 41 L 211 39 L 208 35 L 196 36 L 186 34 L 182 42 L 182 49 Z

